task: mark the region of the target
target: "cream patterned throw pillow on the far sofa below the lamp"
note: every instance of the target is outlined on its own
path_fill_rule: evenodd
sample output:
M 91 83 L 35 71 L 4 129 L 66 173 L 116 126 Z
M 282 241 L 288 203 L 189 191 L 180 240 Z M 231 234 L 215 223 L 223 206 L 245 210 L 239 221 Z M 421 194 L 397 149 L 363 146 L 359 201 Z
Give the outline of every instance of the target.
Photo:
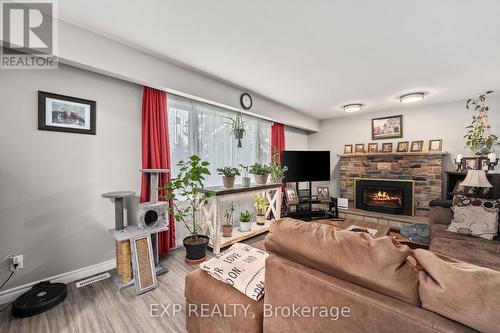
M 497 200 L 455 196 L 448 231 L 492 240 L 498 232 Z

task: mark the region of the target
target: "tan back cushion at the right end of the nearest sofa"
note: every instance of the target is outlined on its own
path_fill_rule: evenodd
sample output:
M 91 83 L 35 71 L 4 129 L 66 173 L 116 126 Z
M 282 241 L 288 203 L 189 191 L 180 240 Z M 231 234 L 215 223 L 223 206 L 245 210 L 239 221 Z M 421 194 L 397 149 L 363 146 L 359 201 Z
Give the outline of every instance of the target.
M 481 332 L 500 327 L 500 272 L 418 249 L 422 307 Z

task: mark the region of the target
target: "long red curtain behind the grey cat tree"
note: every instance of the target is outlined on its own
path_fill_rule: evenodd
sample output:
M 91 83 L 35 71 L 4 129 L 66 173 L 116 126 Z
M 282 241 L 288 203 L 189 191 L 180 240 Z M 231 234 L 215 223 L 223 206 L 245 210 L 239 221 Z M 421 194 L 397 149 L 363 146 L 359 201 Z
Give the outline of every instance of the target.
M 168 140 L 167 95 L 165 92 L 144 87 L 142 95 L 142 168 L 170 169 Z M 161 174 L 159 186 L 170 180 L 170 172 Z M 141 202 L 149 201 L 149 179 L 142 176 Z M 170 203 L 172 205 L 172 203 Z M 175 246 L 175 223 L 172 216 L 168 231 L 158 234 L 158 253 L 167 254 Z

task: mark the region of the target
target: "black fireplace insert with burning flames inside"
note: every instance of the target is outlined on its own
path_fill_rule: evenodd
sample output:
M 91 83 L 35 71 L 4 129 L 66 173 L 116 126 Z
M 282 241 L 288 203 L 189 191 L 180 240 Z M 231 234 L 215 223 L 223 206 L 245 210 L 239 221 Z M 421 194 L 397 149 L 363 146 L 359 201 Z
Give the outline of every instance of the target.
M 395 215 L 414 215 L 413 180 L 355 179 L 358 209 Z

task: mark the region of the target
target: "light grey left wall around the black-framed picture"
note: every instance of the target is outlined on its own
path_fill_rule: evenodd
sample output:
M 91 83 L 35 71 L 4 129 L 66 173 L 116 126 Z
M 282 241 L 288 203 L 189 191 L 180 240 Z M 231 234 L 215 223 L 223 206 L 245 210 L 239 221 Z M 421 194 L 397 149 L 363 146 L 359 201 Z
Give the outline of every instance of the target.
M 1 72 L 0 257 L 24 254 L 5 289 L 114 258 L 101 194 L 140 190 L 142 87 L 65 65 Z M 97 135 L 39 131 L 38 90 L 95 100 Z

